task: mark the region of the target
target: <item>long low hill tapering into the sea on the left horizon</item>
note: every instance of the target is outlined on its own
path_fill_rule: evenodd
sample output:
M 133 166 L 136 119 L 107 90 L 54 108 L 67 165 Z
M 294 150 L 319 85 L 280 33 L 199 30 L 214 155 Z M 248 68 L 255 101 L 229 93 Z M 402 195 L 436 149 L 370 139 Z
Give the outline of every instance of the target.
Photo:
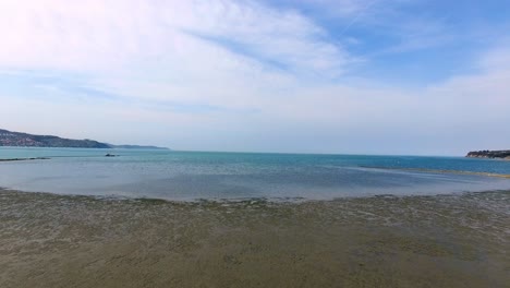
M 53 135 L 34 135 L 22 132 L 12 132 L 3 129 L 0 129 L 0 146 L 167 149 L 156 146 L 112 145 L 88 139 L 73 140 Z

